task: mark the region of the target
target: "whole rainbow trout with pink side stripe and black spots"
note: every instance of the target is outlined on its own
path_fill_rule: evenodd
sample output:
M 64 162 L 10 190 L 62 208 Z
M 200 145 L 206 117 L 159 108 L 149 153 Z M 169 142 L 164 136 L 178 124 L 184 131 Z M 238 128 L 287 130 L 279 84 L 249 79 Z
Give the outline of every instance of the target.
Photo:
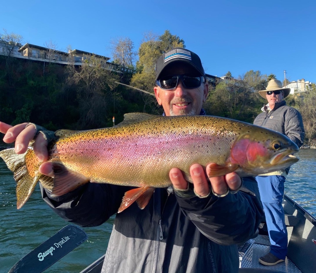
M 137 201 L 144 208 L 155 188 L 171 186 L 169 171 L 177 167 L 192 182 L 190 166 L 213 162 L 211 177 L 235 171 L 240 177 L 285 169 L 298 158 L 288 137 L 256 125 L 213 116 L 163 117 L 128 113 L 116 126 L 88 131 L 58 130 L 49 143 L 54 178 L 41 175 L 32 146 L 0 157 L 14 172 L 17 208 L 38 181 L 55 196 L 88 183 L 137 187 L 125 193 L 119 212 Z

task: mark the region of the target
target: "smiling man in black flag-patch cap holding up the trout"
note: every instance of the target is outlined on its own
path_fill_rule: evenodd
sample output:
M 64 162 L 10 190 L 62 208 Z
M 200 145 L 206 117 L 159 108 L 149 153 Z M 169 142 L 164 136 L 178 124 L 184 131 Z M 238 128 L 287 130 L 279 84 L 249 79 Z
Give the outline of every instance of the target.
M 176 48 L 157 61 L 154 87 L 164 115 L 205 114 L 202 104 L 208 84 L 200 58 L 190 50 Z M 26 123 L 11 127 L 0 122 L 4 141 L 15 142 L 17 153 L 27 149 L 36 129 Z M 157 144 L 159 145 L 159 144 Z M 35 154 L 47 160 L 47 142 L 39 134 Z M 173 187 L 155 189 L 148 205 L 132 204 L 117 213 L 102 272 L 212 272 L 237 273 L 238 243 L 254 237 L 262 218 L 257 183 L 236 173 L 207 179 L 198 164 L 190 168 L 193 184 L 179 169 L 169 172 Z M 40 172 L 53 176 L 44 162 Z M 131 187 L 87 183 L 65 195 L 52 197 L 41 187 L 43 199 L 61 217 L 83 227 L 103 224 L 118 211 L 124 193 Z

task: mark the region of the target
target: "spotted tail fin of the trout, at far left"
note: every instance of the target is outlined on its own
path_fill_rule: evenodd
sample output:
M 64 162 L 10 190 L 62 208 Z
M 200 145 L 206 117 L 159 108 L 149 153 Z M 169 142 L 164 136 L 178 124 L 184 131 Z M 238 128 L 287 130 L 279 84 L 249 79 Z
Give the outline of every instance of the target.
M 30 148 L 24 154 L 15 154 L 14 148 L 5 149 L 0 151 L 0 157 L 14 173 L 16 207 L 20 209 L 31 196 L 42 176 L 38 170 L 40 162 Z

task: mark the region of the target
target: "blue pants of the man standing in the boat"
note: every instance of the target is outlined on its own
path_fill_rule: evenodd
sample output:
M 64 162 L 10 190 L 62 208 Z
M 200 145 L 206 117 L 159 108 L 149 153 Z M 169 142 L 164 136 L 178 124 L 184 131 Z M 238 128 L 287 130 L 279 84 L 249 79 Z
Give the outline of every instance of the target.
M 282 206 L 285 177 L 270 175 L 255 178 L 258 182 L 260 199 L 270 236 L 270 253 L 284 260 L 288 248 L 288 232 Z

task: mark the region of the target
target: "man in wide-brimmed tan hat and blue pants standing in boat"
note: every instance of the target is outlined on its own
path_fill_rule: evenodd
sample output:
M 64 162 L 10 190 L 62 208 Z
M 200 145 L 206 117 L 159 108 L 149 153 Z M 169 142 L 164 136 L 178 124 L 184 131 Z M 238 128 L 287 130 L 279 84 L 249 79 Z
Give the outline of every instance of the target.
M 301 147 L 305 135 L 303 120 L 296 109 L 286 105 L 284 98 L 289 93 L 290 88 L 283 89 L 281 81 L 270 80 L 267 89 L 259 91 L 260 96 L 267 99 L 268 103 L 262 107 L 263 113 L 255 118 L 253 124 L 280 132 Z M 256 177 L 271 243 L 270 252 L 259 258 L 259 262 L 264 265 L 283 262 L 287 254 L 288 233 L 282 200 L 289 169 Z

